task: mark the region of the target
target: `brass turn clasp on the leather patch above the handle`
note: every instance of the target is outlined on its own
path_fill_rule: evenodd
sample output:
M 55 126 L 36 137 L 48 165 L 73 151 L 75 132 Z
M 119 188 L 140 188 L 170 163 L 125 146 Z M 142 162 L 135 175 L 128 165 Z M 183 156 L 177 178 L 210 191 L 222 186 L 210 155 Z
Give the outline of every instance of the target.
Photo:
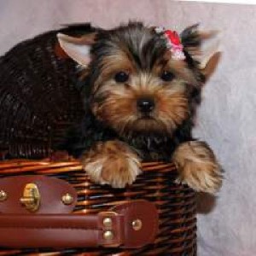
M 29 212 L 37 212 L 40 206 L 41 196 L 38 190 L 38 186 L 35 183 L 27 183 L 23 196 L 20 198 L 22 206 L 26 207 Z

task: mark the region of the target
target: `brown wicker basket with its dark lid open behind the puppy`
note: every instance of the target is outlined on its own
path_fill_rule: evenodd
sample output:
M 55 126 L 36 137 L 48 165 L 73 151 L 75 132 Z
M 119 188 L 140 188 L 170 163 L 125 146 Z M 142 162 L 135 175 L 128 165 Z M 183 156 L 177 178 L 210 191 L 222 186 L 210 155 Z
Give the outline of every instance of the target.
M 83 113 L 75 64 L 56 54 L 56 32 L 22 42 L 0 58 L 0 177 L 35 173 L 67 180 L 79 195 L 75 213 L 96 213 L 119 201 L 154 201 L 160 232 L 154 244 L 134 250 L 2 248 L 0 255 L 196 255 L 195 192 L 173 183 L 174 165 L 143 163 L 136 183 L 111 189 L 90 183 L 77 160 L 42 160 Z

